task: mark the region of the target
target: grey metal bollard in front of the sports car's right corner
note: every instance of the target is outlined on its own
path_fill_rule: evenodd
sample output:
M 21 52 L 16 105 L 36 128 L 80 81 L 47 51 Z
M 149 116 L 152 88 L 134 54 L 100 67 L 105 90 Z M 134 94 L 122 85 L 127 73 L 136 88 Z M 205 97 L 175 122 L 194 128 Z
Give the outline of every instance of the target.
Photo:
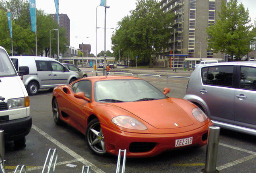
M 216 165 L 220 130 L 221 128 L 217 126 L 210 126 L 208 129 L 205 169 L 202 169 L 202 173 L 219 173 Z

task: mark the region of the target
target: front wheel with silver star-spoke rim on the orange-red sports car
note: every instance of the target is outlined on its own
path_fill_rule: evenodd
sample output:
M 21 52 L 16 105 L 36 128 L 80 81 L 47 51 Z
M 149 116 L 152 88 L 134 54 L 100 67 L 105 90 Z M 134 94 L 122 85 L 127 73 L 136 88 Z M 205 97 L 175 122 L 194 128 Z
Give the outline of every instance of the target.
M 93 119 L 86 128 L 86 142 L 96 155 L 106 155 L 104 135 L 98 119 Z

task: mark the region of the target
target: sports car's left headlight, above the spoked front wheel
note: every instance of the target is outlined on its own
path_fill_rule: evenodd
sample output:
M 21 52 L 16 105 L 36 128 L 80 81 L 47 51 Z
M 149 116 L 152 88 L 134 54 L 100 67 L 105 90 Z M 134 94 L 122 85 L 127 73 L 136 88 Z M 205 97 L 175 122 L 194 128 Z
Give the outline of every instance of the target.
M 133 129 L 133 130 L 147 130 L 147 127 L 130 116 L 126 115 L 119 115 L 112 119 L 112 122 L 120 127 L 124 127 L 126 129 Z

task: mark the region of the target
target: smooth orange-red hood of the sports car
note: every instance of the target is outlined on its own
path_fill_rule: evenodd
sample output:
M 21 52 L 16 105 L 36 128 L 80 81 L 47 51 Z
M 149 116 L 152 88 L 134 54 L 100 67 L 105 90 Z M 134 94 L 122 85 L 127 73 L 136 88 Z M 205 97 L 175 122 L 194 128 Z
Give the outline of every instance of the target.
M 182 105 L 174 103 L 171 99 L 114 103 L 114 105 L 129 111 L 157 129 L 172 129 L 193 125 L 190 115 L 182 109 Z

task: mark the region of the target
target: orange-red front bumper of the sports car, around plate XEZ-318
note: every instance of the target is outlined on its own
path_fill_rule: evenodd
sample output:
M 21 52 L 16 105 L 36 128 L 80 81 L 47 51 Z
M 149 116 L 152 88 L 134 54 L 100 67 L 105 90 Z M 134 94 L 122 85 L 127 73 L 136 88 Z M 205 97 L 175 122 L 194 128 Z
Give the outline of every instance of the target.
M 118 155 L 119 149 L 126 149 L 127 157 L 153 157 L 164 151 L 182 149 L 185 147 L 202 147 L 207 143 L 209 123 L 193 131 L 175 134 L 145 134 L 129 133 L 101 125 L 105 139 L 105 149 L 108 153 Z M 175 147 L 176 139 L 193 137 L 191 145 Z M 136 148 L 137 147 L 137 148 Z

